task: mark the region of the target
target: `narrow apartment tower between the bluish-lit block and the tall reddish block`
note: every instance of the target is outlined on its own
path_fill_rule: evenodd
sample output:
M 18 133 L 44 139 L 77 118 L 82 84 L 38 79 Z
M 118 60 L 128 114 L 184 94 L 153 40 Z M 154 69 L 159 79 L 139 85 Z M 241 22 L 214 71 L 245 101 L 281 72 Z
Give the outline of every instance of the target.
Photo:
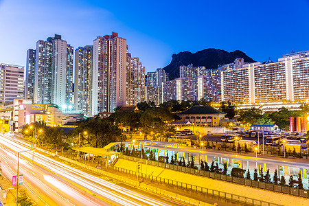
M 92 58 L 93 46 L 75 50 L 74 109 L 85 115 L 90 114 Z

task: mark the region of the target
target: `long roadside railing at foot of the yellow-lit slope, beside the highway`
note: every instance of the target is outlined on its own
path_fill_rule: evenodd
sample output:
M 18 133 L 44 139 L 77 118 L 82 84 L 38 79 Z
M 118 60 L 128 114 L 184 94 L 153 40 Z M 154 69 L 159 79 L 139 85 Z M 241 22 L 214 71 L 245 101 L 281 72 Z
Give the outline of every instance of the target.
M 242 203 L 242 204 L 281 206 L 281 205 L 278 205 L 278 204 L 275 204 L 275 203 L 268 203 L 266 201 L 260 201 L 260 200 L 254 199 L 254 198 L 248 198 L 246 196 L 240 196 L 240 195 L 237 195 L 237 194 L 231 194 L 231 193 L 222 192 L 222 191 L 219 191 L 219 190 L 212 190 L 212 189 L 207 188 L 207 187 L 198 187 L 196 185 L 182 183 L 182 182 L 179 182 L 179 181 L 173 181 L 173 180 L 170 180 L 170 179 L 164 179 L 164 178 L 158 177 L 158 176 L 139 174 L 138 172 L 135 172 L 135 171 L 132 171 L 132 170 L 126 170 L 124 168 L 117 168 L 115 166 L 113 166 L 111 168 L 113 170 L 117 170 L 119 172 L 124 172 L 126 174 L 133 174 L 133 175 L 142 176 L 144 179 L 148 179 L 149 181 L 156 181 L 158 183 L 163 183 L 163 184 L 166 184 L 166 185 L 181 187 L 181 188 L 186 189 L 186 190 L 191 190 L 191 191 L 194 191 L 194 192 L 200 192 L 202 194 L 207 194 L 207 195 L 216 196 L 216 197 L 219 197 L 219 198 L 224 198 L 224 199 L 229 200 L 229 201 L 236 201 L 236 202 Z M 190 169 L 190 168 L 188 168 L 188 169 Z M 154 188 L 156 188 L 156 187 L 154 187 Z

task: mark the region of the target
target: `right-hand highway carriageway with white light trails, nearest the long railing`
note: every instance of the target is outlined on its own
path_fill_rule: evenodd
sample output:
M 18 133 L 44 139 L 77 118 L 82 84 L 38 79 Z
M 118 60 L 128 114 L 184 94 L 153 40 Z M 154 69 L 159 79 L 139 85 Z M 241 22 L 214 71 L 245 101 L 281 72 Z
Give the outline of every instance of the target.
M 5 146 L 8 146 L 15 151 L 28 149 L 27 144 L 23 144 L 12 138 L 7 139 L 0 137 L 0 139 L 2 144 L 5 144 Z M 32 152 L 24 152 L 23 155 L 32 159 Z M 91 174 L 87 174 L 86 172 L 71 168 L 68 165 L 55 161 L 54 159 L 45 157 L 38 152 L 34 152 L 34 161 L 43 165 L 47 170 L 62 176 L 65 180 L 80 185 L 93 194 L 96 194 L 115 205 L 182 205 L 181 203 L 172 203 L 169 200 L 164 200 L 159 196 L 150 197 L 150 195 L 146 196 L 145 194 L 133 192 Z M 55 187 L 59 187 L 59 185 L 56 184 L 63 182 L 53 181 L 49 176 L 45 176 L 45 181 L 48 181 L 49 185 L 54 184 Z M 78 196 L 74 195 L 73 198 L 78 198 Z

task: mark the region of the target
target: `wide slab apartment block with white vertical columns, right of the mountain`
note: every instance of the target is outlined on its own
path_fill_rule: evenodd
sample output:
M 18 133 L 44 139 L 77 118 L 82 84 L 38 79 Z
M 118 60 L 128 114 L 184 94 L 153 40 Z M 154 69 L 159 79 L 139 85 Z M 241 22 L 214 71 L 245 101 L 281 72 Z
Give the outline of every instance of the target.
M 309 51 L 286 54 L 278 62 L 255 62 L 221 71 L 222 101 L 254 104 L 309 100 Z

